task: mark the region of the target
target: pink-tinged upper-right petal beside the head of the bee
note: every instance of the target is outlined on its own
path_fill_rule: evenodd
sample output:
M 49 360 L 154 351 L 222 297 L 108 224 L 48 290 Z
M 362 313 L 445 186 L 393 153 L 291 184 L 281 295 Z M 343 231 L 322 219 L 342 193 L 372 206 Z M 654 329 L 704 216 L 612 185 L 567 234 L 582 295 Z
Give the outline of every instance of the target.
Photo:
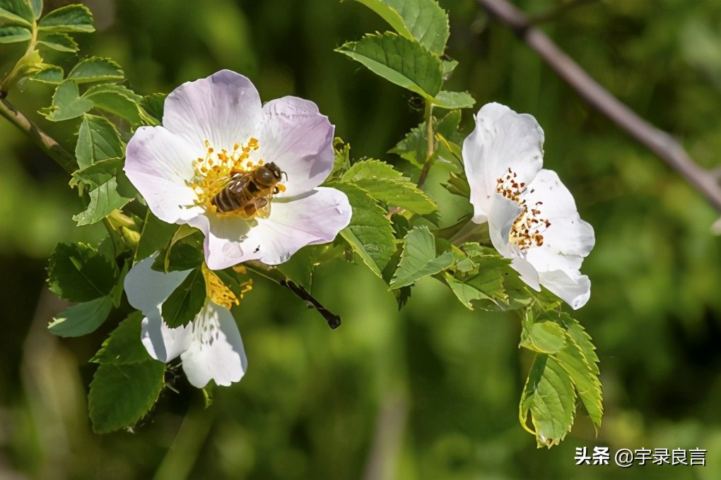
M 284 96 L 263 106 L 254 158 L 286 172 L 286 191 L 278 198 L 304 194 L 323 183 L 333 168 L 335 127 L 312 101 Z

